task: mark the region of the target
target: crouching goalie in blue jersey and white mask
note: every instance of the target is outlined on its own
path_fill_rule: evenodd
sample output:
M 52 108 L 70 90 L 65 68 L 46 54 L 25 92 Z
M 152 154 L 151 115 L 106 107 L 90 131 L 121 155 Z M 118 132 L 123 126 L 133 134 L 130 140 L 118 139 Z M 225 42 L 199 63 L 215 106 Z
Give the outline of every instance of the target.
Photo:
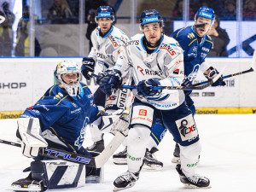
M 34 158 L 26 169 L 30 174 L 12 183 L 12 189 L 44 191 L 81 186 L 85 175 L 101 177 L 101 169 L 61 160 L 47 160 L 38 155 L 40 147 L 58 148 L 91 156 L 82 144 L 86 125 L 101 121 L 93 96 L 80 82 L 81 73 L 74 61 L 61 61 L 55 71 L 57 84 L 51 86 L 18 119 L 17 137 L 22 154 Z M 54 174 L 53 174 L 54 173 Z M 84 174 L 82 174 L 84 173 Z

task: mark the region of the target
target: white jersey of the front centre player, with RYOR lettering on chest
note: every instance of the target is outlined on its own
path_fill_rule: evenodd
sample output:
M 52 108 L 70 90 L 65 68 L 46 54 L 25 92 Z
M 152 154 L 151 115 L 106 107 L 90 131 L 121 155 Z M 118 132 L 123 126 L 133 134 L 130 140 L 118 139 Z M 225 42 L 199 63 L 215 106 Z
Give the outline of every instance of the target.
M 148 54 L 143 46 L 143 34 L 137 34 L 126 44 L 113 67 L 125 74 L 131 69 L 135 84 L 142 80 L 159 79 L 161 86 L 180 86 L 184 79 L 183 49 L 174 38 L 162 35 L 160 45 Z M 184 102 L 183 90 L 162 90 L 159 96 L 134 95 L 154 108 L 169 110 Z

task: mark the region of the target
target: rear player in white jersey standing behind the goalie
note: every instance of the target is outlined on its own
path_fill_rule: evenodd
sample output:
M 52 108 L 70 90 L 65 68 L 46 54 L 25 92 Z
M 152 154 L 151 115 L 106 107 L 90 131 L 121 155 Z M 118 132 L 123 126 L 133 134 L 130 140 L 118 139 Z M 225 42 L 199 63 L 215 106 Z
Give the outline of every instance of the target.
M 120 47 L 128 40 L 124 32 L 113 26 L 115 17 L 113 9 L 109 6 L 100 6 L 96 10 L 95 20 L 98 26 L 90 37 L 93 47 L 88 57 L 84 57 L 81 68 L 84 78 L 87 80 L 90 80 L 90 73 L 94 73 L 96 65 L 101 68 L 102 72 L 113 67 L 119 56 Z M 94 94 L 96 105 L 105 108 L 107 112 L 113 112 L 119 108 L 124 109 L 128 95 L 128 90 L 117 90 L 106 99 L 106 95 L 100 89 L 97 89 Z M 86 149 L 101 153 L 104 149 L 103 132 L 93 125 L 90 128 L 90 133 L 94 143 Z

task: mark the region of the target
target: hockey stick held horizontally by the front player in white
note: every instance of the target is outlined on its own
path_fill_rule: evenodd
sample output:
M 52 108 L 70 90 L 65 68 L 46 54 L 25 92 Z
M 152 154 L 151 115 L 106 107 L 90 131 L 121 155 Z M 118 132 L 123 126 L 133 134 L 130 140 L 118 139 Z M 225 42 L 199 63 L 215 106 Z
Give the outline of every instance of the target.
M 150 89 L 151 90 L 203 90 L 203 89 L 207 88 L 208 86 L 212 85 L 213 83 L 215 83 L 220 78 L 220 76 L 224 72 L 224 68 L 220 73 L 218 73 L 218 75 L 215 76 L 215 78 L 209 79 L 208 81 L 201 82 L 199 84 L 192 84 L 191 86 L 158 86 L 158 87 L 151 86 Z M 94 73 L 90 73 L 90 76 L 96 77 L 96 78 L 98 77 Z M 115 86 L 113 88 L 133 90 L 133 89 L 137 89 L 137 85 L 122 84 L 122 85 Z

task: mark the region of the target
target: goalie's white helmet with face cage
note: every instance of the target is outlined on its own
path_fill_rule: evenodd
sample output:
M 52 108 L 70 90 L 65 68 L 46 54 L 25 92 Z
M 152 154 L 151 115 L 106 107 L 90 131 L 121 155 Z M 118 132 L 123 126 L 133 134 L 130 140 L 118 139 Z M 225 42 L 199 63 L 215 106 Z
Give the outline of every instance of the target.
M 74 61 L 61 61 L 55 71 L 56 82 L 61 88 L 67 90 L 69 96 L 79 94 L 79 82 L 81 81 L 81 71 Z

